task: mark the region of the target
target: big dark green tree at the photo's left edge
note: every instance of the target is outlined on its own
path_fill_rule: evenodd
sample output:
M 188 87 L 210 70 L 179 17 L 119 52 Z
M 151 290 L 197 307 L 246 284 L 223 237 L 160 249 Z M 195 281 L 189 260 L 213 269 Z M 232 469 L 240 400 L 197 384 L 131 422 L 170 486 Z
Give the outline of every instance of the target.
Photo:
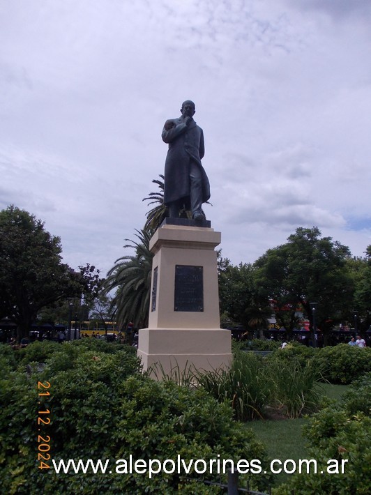
M 13 205 L 0 212 L 0 317 L 17 324 L 18 340 L 43 307 L 92 288 L 95 267 L 80 268 L 62 264 L 60 238 L 34 215 Z

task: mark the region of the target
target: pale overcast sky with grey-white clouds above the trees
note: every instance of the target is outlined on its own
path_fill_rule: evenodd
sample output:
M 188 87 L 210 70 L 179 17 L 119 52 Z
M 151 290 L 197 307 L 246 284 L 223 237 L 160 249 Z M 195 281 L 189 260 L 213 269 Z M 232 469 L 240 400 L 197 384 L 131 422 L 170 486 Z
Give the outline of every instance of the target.
M 166 119 L 203 128 L 222 254 L 297 227 L 371 244 L 370 0 L 0 0 L 0 209 L 105 275 L 142 229 Z

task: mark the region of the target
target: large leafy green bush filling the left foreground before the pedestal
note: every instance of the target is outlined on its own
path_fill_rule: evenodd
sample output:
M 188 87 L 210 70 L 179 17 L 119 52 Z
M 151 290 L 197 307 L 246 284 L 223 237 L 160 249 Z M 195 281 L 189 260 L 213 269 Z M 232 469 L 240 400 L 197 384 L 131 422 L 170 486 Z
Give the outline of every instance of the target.
M 28 377 L 18 368 L 0 380 L 2 493 L 218 493 L 202 484 L 195 489 L 176 473 L 162 472 L 152 479 L 148 474 L 119 474 L 114 463 L 130 455 L 147 463 L 175 460 L 177 455 L 206 462 L 218 456 L 266 459 L 262 444 L 232 420 L 227 404 L 218 404 L 202 389 L 149 379 L 139 373 L 139 361 L 131 351 L 117 347 L 114 353 L 105 353 L 91 345 L 96 346 L 59 344 L 61 351 L 53 349 L 50 358 L 43 356 L 43 372 Z M 40 398 L 38 381 L 50 383 L 50 397 Z M 51 423 L 41 433 L 38 410 L 51 411 Z M 56 463 L 110 459 L 112 473 L 56 474 L 46 459 L 51 469 L 38 469 L 38 434 L 50 436 Z M 190 475 L 197 477 L 194 471 Z

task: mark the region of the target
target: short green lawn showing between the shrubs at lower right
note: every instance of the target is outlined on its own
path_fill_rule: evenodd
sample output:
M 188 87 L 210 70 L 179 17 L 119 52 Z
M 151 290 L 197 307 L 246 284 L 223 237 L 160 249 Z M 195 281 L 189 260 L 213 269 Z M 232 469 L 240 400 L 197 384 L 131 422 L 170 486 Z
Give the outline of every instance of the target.
M 339 400 L 349 386 L 332 385 L 331 383 L 321 383 L 323 395 L 331 399 Z M 294 420 L 256 420 L 246 423 L 246 427 L 251 428 L 265 445 L 268 456 L 271 459 L 309 459 L 308 450 L 305 448 L 305 439 L 301 434 L 301 429 L 308 418 L 297 418 Z M 276 464 L 276 469 L 280 466 Z M 290 465 L 291 467 L 291 465 Z M 289 475 L 280 473 L 275 475 L 275 486 L 280 485 L 289 478 Z

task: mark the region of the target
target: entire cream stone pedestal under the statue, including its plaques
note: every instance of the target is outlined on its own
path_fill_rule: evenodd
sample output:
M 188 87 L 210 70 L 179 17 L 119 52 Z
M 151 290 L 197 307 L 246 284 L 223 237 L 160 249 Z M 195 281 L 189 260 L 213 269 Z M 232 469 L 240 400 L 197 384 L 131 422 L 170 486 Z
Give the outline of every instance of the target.
M 220 232 L 192 220 L 168 219 L 153 235 L 149 328 L 139 330 L 138 343 L 144 370 L 155 366 L 160 377 L 229 366 L 231 333 L 219 318 L 219 244 Z

